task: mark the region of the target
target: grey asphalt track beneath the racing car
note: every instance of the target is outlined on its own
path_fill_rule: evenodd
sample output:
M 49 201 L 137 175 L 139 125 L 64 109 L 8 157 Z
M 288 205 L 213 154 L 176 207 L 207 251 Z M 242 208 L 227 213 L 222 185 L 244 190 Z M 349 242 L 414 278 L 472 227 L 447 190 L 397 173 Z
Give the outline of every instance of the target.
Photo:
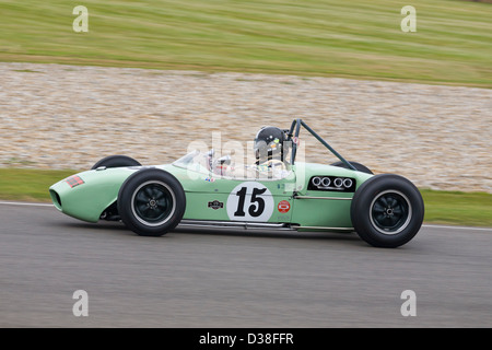
M 492 229 L 140 237 L 54 207 L 0 205 L 0 327 L 492 327 Z M 72 313 L 85 290 L 89 316 Z M 401 293 L 415 293 L 405 317 Z

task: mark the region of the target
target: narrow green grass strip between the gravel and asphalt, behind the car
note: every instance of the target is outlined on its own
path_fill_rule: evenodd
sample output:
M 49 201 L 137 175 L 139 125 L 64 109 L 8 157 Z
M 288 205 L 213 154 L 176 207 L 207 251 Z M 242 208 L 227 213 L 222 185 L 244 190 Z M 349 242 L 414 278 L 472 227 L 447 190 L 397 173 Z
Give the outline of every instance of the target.
M 49 202 L 48 188 L 75 171 L 0 168 L 0 199 Z M 425 222 L 492 228 L 492 195 L 422 189 Z

